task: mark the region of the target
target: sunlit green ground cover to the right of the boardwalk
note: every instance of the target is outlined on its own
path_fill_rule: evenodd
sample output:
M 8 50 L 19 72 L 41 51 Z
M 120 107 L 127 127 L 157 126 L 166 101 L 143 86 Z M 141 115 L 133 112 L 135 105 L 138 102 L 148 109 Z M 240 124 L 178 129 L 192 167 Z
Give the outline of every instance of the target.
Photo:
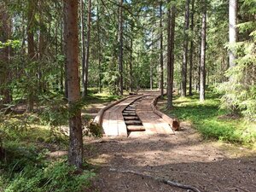
M 198 95 L 176 97 L 174 108 L 166 113 L 191 122 L 206 139 L 250 145 L 256 143 L 256 125 L 242 118 L 220 119 L 227 112 L 219 109 L 219 103 L 219 96 L 211 93 L 207 93 L 207 100 L 203 103 L 199 102 Z

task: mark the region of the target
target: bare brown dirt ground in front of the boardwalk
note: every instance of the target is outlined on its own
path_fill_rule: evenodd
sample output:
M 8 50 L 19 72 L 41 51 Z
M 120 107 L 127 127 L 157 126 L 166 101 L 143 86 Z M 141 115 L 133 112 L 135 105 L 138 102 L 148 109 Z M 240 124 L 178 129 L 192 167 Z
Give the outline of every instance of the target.
M 96 112 L 93 108 L 89 106 L 88 110 Z M 96 167 L 97 175 L 90 191 L 186 191 L 110 169 L 164 177 L 201 191 L 256 189 L 255 150 L 204 140 L 188 121 L 182 121 L 181 131 L 172 136 L 86 138 L 85 143 L 84 156 Z

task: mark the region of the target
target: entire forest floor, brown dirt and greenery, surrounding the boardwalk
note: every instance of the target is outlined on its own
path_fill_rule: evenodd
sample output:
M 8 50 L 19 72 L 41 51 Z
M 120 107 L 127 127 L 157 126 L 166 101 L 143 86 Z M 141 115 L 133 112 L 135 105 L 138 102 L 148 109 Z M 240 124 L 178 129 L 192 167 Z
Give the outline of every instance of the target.
M 197 96 L 175 98 L 172 111 L 165 110 L 166 100 L 158 103 L 163 112 L 174 114 L 181 120 L 181 130 L 176 135 L 85 137 L 86 169 L 95 172 L 96 177 L 92 178 L 92 186 L 88 188 L 83 183 L 88 181 L 88 174 L 85 172 L 85 176 L 81 176 L 84 191 L 186 191 L 131 173 L 109 171 L 118 169 L 165 177 L 201 191 L 254 192 L 255 126 L 244 124 L 241 119 L 227 119 L 230 117 L 218 110 L 218 96 L 207 96 L 204 104 L 197 102 Z M 101 108 L 117 99 L 119 96 L 91 93 L 82 110 L 84 121 L 92 119 Z M 68 138 L 55 137 L 40 117 L 24 113 L 10 115 L 6 120 L 3 130 L 9 130 L 11 139 L 4 140 L 8 158 L 7 163 L 0 162 L 0 191 L 37 191 L 42 188 L 41 182 L 53 189 L 64 186 L 66 191 L 73 191 L 71 183 L 78 186 L 78 177 L 69 175 L 69 171 L 62 168 L 68 166 L 65 164 Z M 45 170 L 52 170 L 52 173 L 44 175 Z M 69 183 L 65 180 L 67 177 Z

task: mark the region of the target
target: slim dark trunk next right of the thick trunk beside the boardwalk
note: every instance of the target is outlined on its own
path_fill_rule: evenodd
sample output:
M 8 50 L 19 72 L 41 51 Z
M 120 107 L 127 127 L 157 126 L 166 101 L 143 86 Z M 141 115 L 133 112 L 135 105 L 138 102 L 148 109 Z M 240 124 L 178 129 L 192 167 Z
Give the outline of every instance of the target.
M 184 39 L 183 39 L 183 65 L 182 65 L 182 73 L 181 73 L 181 76 L 182 76 L 181 96 L 186 96 L 186 90 L 187 90 L 188 31 L 189 31 L 189 0 L 186 0 Z

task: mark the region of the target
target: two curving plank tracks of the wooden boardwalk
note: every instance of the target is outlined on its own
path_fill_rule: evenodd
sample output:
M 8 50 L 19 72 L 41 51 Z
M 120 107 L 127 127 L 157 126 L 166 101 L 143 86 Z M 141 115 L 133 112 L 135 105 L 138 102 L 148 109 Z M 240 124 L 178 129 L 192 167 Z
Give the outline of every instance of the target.
M 103 128 L 103 134 L 108 137 L 128 137 L 130 131 L 127 131 L 127 125 L 123 112 L 127 106 L 137 102 L 135 110 L 137 117 L 143 124 L 144 131 L 139 134 L 174 134 L 168 123 L 161 119 L 151 108 L 154 98 L 158 96 L 155 93 L 145 93 L 144 95 L 131 96 L 104 111 L 100 121 Z M 126 121 L 127 122 L 127 121 Z

